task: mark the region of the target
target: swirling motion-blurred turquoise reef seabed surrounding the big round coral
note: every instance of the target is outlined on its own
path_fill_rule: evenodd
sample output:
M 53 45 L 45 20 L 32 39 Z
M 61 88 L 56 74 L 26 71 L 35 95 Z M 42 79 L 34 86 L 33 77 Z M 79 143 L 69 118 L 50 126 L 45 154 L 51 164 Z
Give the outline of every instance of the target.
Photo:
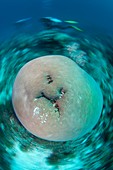
M 99 84 L 99 122 L 79 140 L 50 142 L 30 134 L 12 107 L 12 87 L 28 61 L 49 54 L 71 58 Z M 70 68 L 71 69 L 71 68 Z M 0 170 L 113 170 L 113 39 L 43 30 L 0 44 Z

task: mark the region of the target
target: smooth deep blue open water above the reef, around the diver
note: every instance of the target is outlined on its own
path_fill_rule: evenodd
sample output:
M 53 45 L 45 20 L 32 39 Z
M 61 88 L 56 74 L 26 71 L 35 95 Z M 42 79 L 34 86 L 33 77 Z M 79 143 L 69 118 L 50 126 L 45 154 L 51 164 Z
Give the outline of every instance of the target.
M 90 33 L 113 34 L 112 7 L 112 0 L 0 0 L 0 37 L 13 34 L 13 23 L 27 17 L 32 17 L 32 29 L 39 30 L 43 16 L 77 20 Z

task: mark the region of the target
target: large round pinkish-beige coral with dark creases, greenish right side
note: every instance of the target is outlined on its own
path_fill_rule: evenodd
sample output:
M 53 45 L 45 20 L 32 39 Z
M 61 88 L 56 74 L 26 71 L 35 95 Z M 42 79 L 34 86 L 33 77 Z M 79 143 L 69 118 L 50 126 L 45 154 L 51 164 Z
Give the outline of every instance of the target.
M 23 126 L 51 141 L 78 139 L 90 132 L 103 105 L 95 80 L 59 55 L 28 62 L 16 77 L 12 101 Z

